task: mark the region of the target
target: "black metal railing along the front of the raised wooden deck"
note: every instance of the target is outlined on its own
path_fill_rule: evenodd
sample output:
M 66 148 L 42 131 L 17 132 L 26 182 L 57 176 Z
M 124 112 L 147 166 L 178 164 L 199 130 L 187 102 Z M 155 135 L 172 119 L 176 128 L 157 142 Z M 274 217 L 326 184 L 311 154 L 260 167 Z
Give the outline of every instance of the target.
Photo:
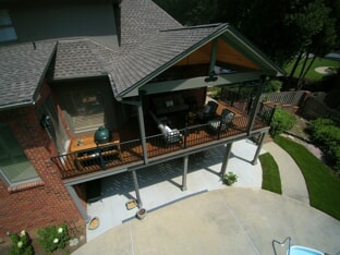
M 267 126 L 271 114 L 269 109 L 262 109 L 256 118 L 254 130 Z M 181 139 L 177 143 L 167 143 L 162 134 L 146 137 L 147 157 L 154 158 L 185 148 L 199 146 L 218 139 L 227 139 L 246 132 L 247 116 L 235 117 L 232 124 L 224 131 L 212 132 L 209 124 L 198 124 L 179 130 Z M 62 179 L 82 175 L 100 170 L 113 169 L 143 160 L 141 139 L 122 142 L 119 144 L 99 145 L 95 148 L 59 155 L 51 158 L 59 167 Z

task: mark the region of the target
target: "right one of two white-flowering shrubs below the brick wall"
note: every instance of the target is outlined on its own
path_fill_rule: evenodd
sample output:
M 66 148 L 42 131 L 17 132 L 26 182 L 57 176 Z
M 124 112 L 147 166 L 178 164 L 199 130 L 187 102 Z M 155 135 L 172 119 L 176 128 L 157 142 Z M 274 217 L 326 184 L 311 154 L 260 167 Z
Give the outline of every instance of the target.
M 64 248 L 70 235 L 68 226 L 62 223 L 60 227 L 48 226 L 38 230 L 39 243 L 46 252 L 52 253 L 58 248 Z

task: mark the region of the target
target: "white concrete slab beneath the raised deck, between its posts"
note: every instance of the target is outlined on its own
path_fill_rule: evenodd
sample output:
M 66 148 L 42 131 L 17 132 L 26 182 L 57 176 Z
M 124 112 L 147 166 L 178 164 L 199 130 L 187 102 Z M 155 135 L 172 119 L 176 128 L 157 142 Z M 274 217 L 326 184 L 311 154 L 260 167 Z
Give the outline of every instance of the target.
M 226 189 L 218 175 L 221 169 L 226 146 L 190 156 L 187 173 L 187 191 L 181 190 L 183 159 L 172 160 L 158 166 L 137 171 L 138 185 L 143 206 L 147 210 L 167 206 L 185 197 L 217 189 Z M 233 143 L 227 172 L 239 175 L 235 187 L 260 189 L 260 165 L 253 166 L 251 161 L 256 151 L 256 145 L 248 141 Z M 125 203 L 135 198 L 131 173 L 121 173 L 102 180 L 102 198 L 87 205 L 90 216 L 100 219 L 96 230 L 87 231 L 90 241 L 109 229 L 135 217 L 137 208 L 126 210 Z

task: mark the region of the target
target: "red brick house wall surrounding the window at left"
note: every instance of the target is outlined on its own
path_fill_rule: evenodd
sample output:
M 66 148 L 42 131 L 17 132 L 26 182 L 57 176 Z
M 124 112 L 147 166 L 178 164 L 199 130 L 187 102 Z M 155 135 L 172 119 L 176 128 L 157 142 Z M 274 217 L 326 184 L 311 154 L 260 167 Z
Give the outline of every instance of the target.
M 50 160 L 56 151 L 40 126 L 36 107 L 0 111 L 0 121 L 9 124 L 42 181 L 11 191 L 0 180 L 0 236 L 7 231 L 33 230 L 75 218 L 82 221 L 58 168 Z

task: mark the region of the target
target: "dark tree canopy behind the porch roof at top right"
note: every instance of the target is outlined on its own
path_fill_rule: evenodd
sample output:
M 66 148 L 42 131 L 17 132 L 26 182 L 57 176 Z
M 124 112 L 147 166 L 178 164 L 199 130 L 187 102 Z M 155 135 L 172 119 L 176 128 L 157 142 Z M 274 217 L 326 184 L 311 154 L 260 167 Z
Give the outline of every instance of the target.
M 155 2 L 183 25 L 232 24 L 279 65 L 337 50 L 340 42 L 340 0 Z

